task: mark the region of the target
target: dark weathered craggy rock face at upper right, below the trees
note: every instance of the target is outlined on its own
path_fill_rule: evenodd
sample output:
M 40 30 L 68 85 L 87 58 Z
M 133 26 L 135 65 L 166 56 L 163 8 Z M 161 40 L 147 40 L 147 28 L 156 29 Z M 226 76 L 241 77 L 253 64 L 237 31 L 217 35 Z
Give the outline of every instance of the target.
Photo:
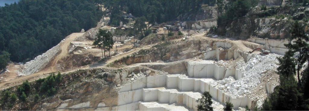
M 226 28 L 227 36 L 238 36 L 246 39 L 250 36 L 259 38 L 284 39 L 290 36 L 291 23 L 275 18 L 252 19 L 242 18 L 233 21 Z

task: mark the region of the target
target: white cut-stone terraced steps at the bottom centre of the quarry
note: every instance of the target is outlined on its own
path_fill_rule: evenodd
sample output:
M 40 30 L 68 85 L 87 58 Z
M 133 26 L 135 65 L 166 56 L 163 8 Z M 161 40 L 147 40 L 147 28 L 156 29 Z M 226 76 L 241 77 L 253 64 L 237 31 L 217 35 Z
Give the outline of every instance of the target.
M 192 65 L 191 68 L 189 65 Z M 138 102 L 155 102 L 185 106 L 190 110 L 197 110 L 196 100 L 201 97 L 202 92 L 210 92 L 217 103 L 224 104 L 226 101 L 238 107 L 249 108 L 255 105 L 256 101 L 248 97 L 233 96 L 223 91 L 222 86 L 216 86 L 218 79 L 235 76 L 237 79 L 242 74 L 237 70 L 228 71 L 227 69 L 218 70 L 211 62 L 203 64 L 189 64 L 188 75 L 157 75 L 143 77 L 125 86 L 118 87 L 118 109 L 117 110 L 136 110 Z M 190 68 L 190 70 L 189 70 Z M 214 72 L 212 70 L 217 70 Z M 191 73 L 192 72 L 192 73 Z M 145 105 L 146 107 L 146 105 Z M 125 108 L 125 109 L 121 109 Z M 144 108 L 144 107 L 143 107 Z M 160 109 L 158 109 L 160 110 Z

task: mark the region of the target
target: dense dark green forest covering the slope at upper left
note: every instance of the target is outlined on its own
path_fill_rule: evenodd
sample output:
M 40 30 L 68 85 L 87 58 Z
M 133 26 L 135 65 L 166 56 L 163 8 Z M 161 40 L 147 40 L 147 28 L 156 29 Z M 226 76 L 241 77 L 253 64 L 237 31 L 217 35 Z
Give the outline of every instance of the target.
M 20 0 L 0 7 L 0 51 L 27 62 L 102 17 L 91 0 Z

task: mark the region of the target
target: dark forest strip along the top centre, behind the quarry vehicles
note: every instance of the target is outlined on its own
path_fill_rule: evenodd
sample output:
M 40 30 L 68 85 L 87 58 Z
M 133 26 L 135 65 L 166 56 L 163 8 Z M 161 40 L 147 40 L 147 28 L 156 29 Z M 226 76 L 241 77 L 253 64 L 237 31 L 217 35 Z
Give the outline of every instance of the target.
M 201 4 L 214 5 L 214 0 L 101 0 L 110 11 L 111 25 L 119 25 L 125 19 L 122 11 L 136 17 L 146 17 L 149 23 L 175 20 L 182 14 L 196 13 Z

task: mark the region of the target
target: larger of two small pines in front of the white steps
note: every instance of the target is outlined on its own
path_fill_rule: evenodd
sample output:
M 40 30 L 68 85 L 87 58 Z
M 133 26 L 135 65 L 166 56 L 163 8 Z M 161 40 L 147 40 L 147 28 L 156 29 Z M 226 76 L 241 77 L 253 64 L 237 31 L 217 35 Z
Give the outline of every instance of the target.
M 211 104 L 212 104 L 211 98 L 212 96 L 210 95 L 209 92 L 204 92 L 202 94 L 202 97 L 196 100 L 196 102 L 198 102 L 197 110 L 198 111 L 212 111 L 213 107 L 211 107 Z

